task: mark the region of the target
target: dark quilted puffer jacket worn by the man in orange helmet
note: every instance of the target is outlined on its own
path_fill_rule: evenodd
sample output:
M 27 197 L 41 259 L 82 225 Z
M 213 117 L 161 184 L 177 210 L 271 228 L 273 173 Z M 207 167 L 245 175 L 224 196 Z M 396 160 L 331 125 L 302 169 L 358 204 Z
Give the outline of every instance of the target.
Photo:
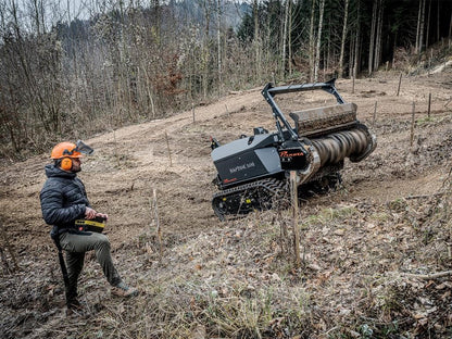
M 75 173 L 50 164 L 46 175 L 48 179 L 40 192 L 43 219 L 59 228 L 74 227 L 75 219 L 84 217 L 90 206 L 84 184 Z

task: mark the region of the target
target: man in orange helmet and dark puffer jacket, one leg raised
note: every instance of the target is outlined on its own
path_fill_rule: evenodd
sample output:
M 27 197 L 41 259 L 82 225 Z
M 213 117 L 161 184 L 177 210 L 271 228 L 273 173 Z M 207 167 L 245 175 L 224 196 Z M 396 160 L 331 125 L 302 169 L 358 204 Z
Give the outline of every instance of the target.
M 46 166 L 48 179 L 40 192 L 42 217 L 47 224 L 53 225 L 52 238 L 60 251 L 68 309 L 80 307 L 77 300 L 77 280 L 84 266 L 85 252 L 91 250 L 96 252 L 106 280 L 112 286 L 112 294 L 138 294 L 136 289 L 124 284 L 114 267 L 106 236 L 80 227 L 84 223 L 90 224 L 86 221 L 93 224 L 93 219 L 108 219 L 106 214 L 96 212 L 89 204 L 85 186 L 77 177 L 77 173 L 81 171 L 80 158 L 92 152 L 93 150 L 81 141 L 77 141 L 77 145 L 56 145 L 51 153 L 54 163 Z M 67 271 L 61 249 L 66 252 Z

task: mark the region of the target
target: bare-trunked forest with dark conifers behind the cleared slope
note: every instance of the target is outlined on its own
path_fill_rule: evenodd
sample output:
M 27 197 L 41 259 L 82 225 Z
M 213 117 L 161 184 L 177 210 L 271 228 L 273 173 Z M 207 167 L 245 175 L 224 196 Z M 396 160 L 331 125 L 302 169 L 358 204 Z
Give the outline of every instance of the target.
M 0 158 L 267 81 L 410 73 L 451 29 L 448 0 L 0 0 Z

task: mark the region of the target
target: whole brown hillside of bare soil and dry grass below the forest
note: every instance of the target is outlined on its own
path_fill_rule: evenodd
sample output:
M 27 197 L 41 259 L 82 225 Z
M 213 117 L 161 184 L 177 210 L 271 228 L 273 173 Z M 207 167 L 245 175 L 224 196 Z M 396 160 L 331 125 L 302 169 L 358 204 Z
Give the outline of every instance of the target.
M 393 73 L 357 79 L 354 91 L 351 80 L 337 81 L 378 147 L 346 163 L 340 189 L 301 202 L 299 268 L 290 234 L 280 235 L 284 226 L 290 233 L 290 211 L 221 223 L 211 208 L 209 138 L 273 130 L 261 88 L 197 106 L 194 122 L 187 111 L 85 140 L 96 152 L 79 176 L 91 204 L 110 215 L 118 271 L 141 291 L 111 298 L 88 255 L 80 280 L 87 316 L 65 315 L 56 251 L 41 219 L 48 154 L 2 165 L 0 337 L 448 338 L 452 70 L 403 77 L 399 96 L 398 84 Z M 324 104 L 317 93 L 287 101 Z M 442 275 L 426 276 L 434 273 Z

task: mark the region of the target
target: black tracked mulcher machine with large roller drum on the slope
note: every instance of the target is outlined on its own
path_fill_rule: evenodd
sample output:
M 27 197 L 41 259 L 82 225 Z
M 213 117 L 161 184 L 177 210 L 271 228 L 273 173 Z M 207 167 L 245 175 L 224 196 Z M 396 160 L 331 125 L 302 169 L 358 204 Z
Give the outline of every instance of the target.
M 292 127 L 275 96 L 310 90 L 335 96 L 337 104 L 290 112 Z M 267 84 L 262 95 L 272 108 L 276 131 L 256 127 L 252 136 L 226 145 L 212 138 L 214 184 L 219 190 L 212 206 L 222 221 L 227 215 L 272 209 L 287 197 L 291 171 L 297 173 L 299 192 L 335 186 L 346 158 L 360 162 L 377 146 L 375 135 L 356 120 L 356 104 L 344 102 L 335 79 L 280 87 Z

